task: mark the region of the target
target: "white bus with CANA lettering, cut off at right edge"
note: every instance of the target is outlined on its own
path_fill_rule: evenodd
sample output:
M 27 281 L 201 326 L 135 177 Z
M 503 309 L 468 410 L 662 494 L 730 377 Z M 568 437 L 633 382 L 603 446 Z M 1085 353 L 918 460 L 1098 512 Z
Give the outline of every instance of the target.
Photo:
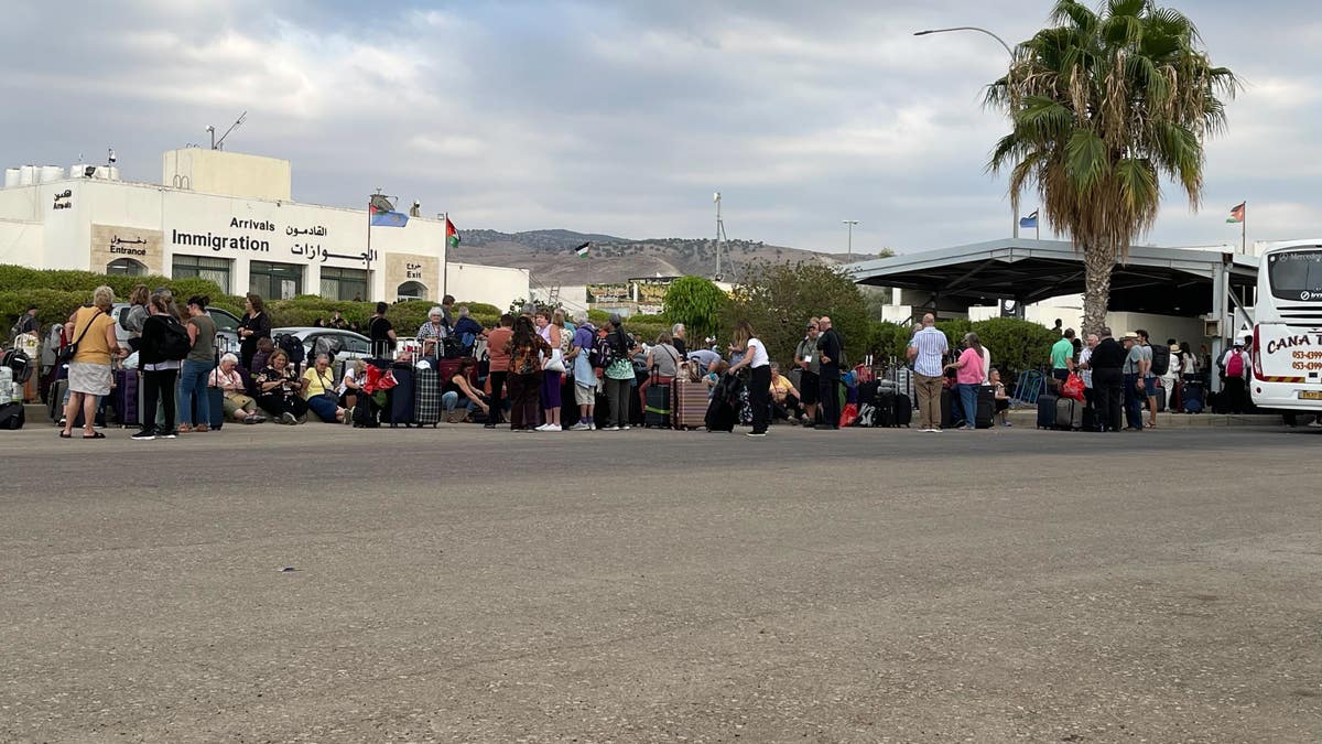
M 1253 402 L 1322 414 L 1322 240 L 1263 253 L 1255 315 Z

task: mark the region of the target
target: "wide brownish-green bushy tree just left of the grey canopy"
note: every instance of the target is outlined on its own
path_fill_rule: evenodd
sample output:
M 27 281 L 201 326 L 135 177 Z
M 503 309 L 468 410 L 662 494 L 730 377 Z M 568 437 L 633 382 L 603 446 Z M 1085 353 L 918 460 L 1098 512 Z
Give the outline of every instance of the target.
M 808 319 L 821 315 L 830 316 L 850 360 L 871 348 L 873 324 L 858 286 L 841 269 L 821 263 L 751 263 L 724 318 L 727 328 L 747 320 L 772 359 L 788 367 Z

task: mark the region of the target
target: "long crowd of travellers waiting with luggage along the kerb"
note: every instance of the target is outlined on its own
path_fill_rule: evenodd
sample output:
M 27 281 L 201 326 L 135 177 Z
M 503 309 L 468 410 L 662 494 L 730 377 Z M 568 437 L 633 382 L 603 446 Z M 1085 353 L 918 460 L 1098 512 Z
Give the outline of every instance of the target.
M 332 355 L 315 355 L 303 368 L 274 343 L 271 319 L 256 294 L 245 298 L 237 353 L 217 348 L 217 328 L 206 312 L 210 301 L 204 295 L 180 306 L 168 289 L 139 285 L 119 320 L 128 330 L 127 346 L 118 340 L 111 316 L 114 291 L 98 287 L 91 301 L 77 308 L 63 328 L 70 347 L 59 433 L 65 438 L 74 436 L 79 420 L 83 438 L 104 437 L 94 424 L 95 413 L 111 395 L 116 363 L 139 376 L 143 413 L 135 440 L 206 433 L 215 418 L 245 425 L 299 425 L 313 417 L 352 424 L 371 363 L 439 368 L 438 360 L 459 357 L 457 367 L 448 368 L 448 379 L 439 381 L 444 420 L 508 425 L 520 433 L 631 429 L 640 424 L 639 412 L 648 408 L 648 391 L 670 387 L 681 377 L 702 381 L 713 400 L 738 391 L 734 418 L 751 428 L 750 437 L 767 436 L 773 421 L 839 429 L 842 385 L 851 375 L 843 360 L 843 339 L 829 316 L 808 320 L 792 359 L 785 360 L 787 371 L 772 360 L 748 323 L 738 324 L 723 348 L 707 338 L 690 349 L 683 324 L 644 342 L 627 331 L 620 315 L 598 328 L 583 312 L 568 318 L 558 308 L 527 308 L 484 328 L 446 297 L 415 334 L 401 338 L 386 318 L 389 306 L 377 303 L 365 324 L 374 361 L 336 364 Z M 24 322 L 34 324 L 36 312 L 20 318 Z M 350 326 L 338 312 L 324 324 Z M 1092 426 L 1101 432 L 1155 428 L 1157 412 L 1163 408 L 1158 396 L 1174 398 L 1182 384 L 1204 380 L 1211 364 L 1187 342 L 1170 339 L 1154 349 L 1144 330 L 1118 339 L 1109 328 L 1084 339 L 1059 323 L 1058 330 L 1048 385 L 1059 392 L 1077 376 L 1081 400 L 1095 412 Z M 472 356 L 477 349 L 480 359 Z M 1011 396 L 977 334 L 966 334 L 952 349 L 935 318 L 925 315 L 908 342 L 907 361 L 919 430 L 1010 426 Z M 1251 367 L 1244 343 L 1236 340 L 1216 367 L 1225 381 L 1227 408 L 1244 410 Z M 943 395 L 951 398 L 951 413 L 943 413 Z M 989 412 L 986 400 L 992 401 Z M 213 405 L 221 410 L 213 412 Z M 986 414 L 992 421 L 980 420 Z

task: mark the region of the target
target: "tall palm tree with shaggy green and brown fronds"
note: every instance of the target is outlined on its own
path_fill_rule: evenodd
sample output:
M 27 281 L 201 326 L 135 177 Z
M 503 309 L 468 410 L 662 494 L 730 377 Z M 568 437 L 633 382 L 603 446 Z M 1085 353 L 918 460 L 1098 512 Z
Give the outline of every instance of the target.
M 1108 0 L 1092 11 L 1059 0 L 1051 26 L 1018 45 L 986 105 L 1013 131 L 988 168 L 1010 168 L 1010 199 L 1034 184 L 1042 209 L 1084 257 L 1084 328 L 1105 323 L 1110 271 L 1151 229 L 1169 177 L 1198 209 L 1203 142 L 1225 130 L 1240 83 L 1214 68 L 1198 29 L 1151 0 Z

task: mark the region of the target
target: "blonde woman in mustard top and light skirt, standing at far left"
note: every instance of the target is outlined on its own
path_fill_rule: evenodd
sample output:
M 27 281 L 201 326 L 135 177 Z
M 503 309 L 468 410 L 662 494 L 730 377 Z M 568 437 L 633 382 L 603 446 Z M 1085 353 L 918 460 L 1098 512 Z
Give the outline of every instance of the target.
M 115 339 L 115 320 L 110 316 L 114 304 L 115 290 L 99 286 L 91 293 L 91 304 L 79 307 L 69 316 L 78 351 L 69 361 L 69 402 L 65 404 L 65 426 L 59 430 L 62 440 L 73 438 L 79 410 L 83 414 L 83 438 L 106 438 L 93 429 L 97 402 L 110 395 L 111 357 L 127 356 L 127 349 L 120 348 Z

